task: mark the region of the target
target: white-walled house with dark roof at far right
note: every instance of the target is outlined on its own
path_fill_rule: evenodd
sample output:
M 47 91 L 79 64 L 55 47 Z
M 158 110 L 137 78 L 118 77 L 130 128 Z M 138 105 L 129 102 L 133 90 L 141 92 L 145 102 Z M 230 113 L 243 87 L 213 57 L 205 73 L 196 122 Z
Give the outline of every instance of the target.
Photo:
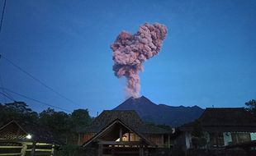
M 256 119 L 244 108 L 206 108 L 198 121 L 206 139 L 203 148 L 223 148 L 256 140 Z M 176 140 L 186 149 L 193 147 L 193 122 L 180 127 L 182 135 Z

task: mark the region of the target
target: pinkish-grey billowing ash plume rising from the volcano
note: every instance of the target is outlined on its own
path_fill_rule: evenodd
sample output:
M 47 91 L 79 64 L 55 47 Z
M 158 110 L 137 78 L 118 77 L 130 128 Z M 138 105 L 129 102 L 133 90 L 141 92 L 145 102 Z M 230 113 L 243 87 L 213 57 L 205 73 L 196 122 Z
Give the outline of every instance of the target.
M 134 35 L 122 31 L 111 44 L 115 63 L 113 71 L 118 78 L 126 76 L 127 79 L 126 98 L 139 98 L 142 63 L 159 53 L 166 34 L 164 25 L 145 23 Z

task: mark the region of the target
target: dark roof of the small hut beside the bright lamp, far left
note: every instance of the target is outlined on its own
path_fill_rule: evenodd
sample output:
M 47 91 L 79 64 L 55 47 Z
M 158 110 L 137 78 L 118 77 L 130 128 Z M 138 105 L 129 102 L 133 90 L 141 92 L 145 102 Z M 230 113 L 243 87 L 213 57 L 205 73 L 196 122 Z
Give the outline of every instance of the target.
M 25 122 L 17 122 L 12 120 L 6 125 L 0 127 L 0 140 L 19 140 L 28 141 L 26 135 L 32 135 L 31 141 L 57 143 L 50 131 L 44 127 Z

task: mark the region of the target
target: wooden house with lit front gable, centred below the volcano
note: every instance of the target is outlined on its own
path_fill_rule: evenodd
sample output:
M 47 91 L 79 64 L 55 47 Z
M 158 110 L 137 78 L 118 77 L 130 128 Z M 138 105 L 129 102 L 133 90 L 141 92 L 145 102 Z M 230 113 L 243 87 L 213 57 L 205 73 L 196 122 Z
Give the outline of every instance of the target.
M 169 147 L 171 131 L 145 125 L 135 111 L 103 111 L 80 131 L 78 144 L 94 147 L 97 155 L 148 155 L 150 149 Z

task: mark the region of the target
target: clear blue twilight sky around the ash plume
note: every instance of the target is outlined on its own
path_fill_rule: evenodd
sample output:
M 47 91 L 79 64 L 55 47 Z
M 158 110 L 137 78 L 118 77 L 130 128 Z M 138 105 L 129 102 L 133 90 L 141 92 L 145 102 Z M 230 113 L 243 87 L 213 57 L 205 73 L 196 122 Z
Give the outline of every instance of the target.
M 140 95 L 171 106 L 244 107 L 256 98 L 255 16 L 253 0 L 7 0 L 0 90 L 37 112 L 49 107 L 42 103 L 88 108 L 93 117 L 116 108 L 126 100 L 126 79 L 114 76 L 110 45 L 122 30 L 158 22 L 168 34 L 144 63 Z M 0 103 L 11 102 L 0 94 Z

